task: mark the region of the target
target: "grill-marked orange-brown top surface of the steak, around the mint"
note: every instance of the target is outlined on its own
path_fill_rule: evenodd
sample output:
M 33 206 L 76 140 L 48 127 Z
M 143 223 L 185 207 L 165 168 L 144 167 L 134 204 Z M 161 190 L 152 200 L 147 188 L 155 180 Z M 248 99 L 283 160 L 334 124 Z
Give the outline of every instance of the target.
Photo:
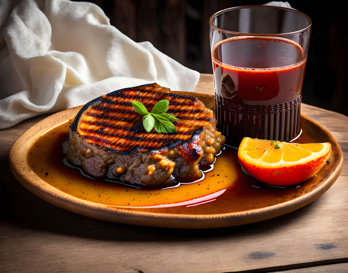
M 172 94 L 158 84 L 121 89 L 103 95 L 84 106 L 76 116 L 73 129 L 88 143 L 116 152 L 150 151 L 167 144 L 189 140 L 201 127 L 214 124 L 213 112 L 197 98 Z M 132 106 L 138 100 L 150 112 L 163 99 L 169 101 L 167 113 L 179 120 L 174 122 L 177 133 L 147 133 L 142 115 Z

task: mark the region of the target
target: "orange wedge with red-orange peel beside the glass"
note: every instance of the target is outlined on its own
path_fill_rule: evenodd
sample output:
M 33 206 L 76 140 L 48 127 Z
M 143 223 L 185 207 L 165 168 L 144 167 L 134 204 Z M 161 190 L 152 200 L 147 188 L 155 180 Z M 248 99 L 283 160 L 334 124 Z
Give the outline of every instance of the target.
M 248 174 L 271 185 L 294 185 L 310 179 L 325 164 L 330 143 L 287 143 L 244 138 L 238 159 Z

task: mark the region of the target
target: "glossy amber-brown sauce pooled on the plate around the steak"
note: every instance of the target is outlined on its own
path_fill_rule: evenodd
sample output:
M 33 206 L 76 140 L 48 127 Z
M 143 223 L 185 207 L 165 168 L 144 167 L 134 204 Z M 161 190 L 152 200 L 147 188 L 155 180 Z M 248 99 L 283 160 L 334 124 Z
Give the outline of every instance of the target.
M 300 197 L 313 187 L 311 180 L 286 188 L 259 182 L 242 171 L 237 150 L 229 147 L 216 157 L 205 178 L 195 183 L 181 181 L 177 187 L 160 189 L 92 179 L 82 175 L 79 168 L 64 165 L 62 143 L 67 138 L 68 124 L 66 121 L 57 125 L 35 140 L 27 155 L 29 165 L 36 175 L 58 190 L 106 206 L 156 213 L 231 213 L 279 204 Z M 314 140 L 303 128 L 296 142 Z

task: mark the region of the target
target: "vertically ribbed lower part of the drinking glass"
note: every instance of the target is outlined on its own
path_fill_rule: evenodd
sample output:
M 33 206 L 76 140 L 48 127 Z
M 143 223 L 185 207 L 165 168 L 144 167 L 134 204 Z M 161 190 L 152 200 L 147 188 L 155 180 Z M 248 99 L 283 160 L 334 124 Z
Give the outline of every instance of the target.
M 287 104 L 253 106 L 233 104 L 215 94 L 215 107 L 217 129 L 232 147 L 244 137 L 292 141 L 301 132 L 301 97 Z

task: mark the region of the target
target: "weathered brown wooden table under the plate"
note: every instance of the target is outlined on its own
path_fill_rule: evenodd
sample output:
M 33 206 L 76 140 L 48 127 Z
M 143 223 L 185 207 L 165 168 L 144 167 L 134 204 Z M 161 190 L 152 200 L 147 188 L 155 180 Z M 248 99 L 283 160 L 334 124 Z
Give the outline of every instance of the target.
M 212 94 L 212 75 L 201 74 L 196 91 Z M 306 104 L 301 110 L 332 133 L 346 157 L 348 117 Z M 0 131 L 1 272 L 348 271 L 347 163 L 321 197 L 267 221 L 211 230 L 111 223 L 48 204 L 12 175 L 11 145 L 46 116 Z

